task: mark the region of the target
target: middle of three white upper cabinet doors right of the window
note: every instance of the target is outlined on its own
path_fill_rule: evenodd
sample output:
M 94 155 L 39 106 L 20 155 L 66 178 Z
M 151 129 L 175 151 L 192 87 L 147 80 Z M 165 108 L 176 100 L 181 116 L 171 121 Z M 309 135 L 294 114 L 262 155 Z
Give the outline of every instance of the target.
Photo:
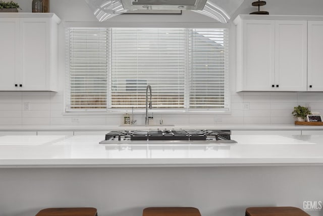
M 307 90 L 307 21 L 277 20 L 275 82 L 278 91 Z

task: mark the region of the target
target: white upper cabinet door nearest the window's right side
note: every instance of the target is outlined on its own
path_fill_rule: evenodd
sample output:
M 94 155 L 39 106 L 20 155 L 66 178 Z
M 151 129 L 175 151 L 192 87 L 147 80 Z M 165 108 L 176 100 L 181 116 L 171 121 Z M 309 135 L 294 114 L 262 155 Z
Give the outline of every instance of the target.
M 244 91 L 271 91 L 275 83 L 275 21 L 243 22 L 242 62 Z

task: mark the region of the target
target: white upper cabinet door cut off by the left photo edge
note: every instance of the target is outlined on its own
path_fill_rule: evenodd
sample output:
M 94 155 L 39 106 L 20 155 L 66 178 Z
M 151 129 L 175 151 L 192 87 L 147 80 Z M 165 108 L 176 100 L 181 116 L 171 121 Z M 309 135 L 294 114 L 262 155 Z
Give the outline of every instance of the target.
M 0 91 L 15 90 L 19 71 L 19 20 L 16 18 L 0 19 Z

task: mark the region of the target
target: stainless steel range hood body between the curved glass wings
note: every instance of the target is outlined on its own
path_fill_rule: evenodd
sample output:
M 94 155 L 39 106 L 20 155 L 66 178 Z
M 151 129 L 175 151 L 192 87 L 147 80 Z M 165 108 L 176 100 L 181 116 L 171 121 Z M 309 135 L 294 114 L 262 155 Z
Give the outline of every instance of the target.
M 126 10 L 203 10 L 206 0 L 122 0 Z

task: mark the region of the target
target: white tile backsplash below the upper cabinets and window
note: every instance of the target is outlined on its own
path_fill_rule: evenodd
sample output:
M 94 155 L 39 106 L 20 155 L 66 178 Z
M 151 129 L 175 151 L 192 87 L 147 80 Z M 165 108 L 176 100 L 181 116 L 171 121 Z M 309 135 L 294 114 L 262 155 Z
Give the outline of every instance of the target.
M 87 125 L 122 124 L 123 113 L 106 115 L 66 115 L 64 96 L 58 93 L 0 92 L 0 125 Z M 29 110 L 25 110 L 29 103 Z M 249 109 L 244 109 L 244 103 Z M 231 113 L 154 113 L 154 123 L 164 124 L 292 124 L 295 106 L 309 106 L 323 114 L 323 93 L 290 92 L 232 92 Z M 76 117 L 77 121 L 72 121 Z M 137 124 L 144 124 L 144 113 L 134 116 Z M 75 120 L 75 119 L 74 119 Z

